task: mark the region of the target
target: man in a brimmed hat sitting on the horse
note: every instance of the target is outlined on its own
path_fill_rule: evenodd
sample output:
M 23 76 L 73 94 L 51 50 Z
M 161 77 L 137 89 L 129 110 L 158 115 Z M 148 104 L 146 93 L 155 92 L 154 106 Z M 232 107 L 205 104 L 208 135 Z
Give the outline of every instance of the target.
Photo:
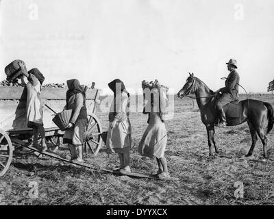
M 219 92 L 222 93 L 220 99 L 218 99 L 216 102 L 216 109 L 218 110 L 219 117 L 220 117 L 219 126 L 222 126 L 222 127 L 226 126 L 226 117 L 225 117 L 225 112 L 223 110 L 223 106 L 239 98 L 238 84 L 240 81 L 240 76 L 235 70 L 237 68 L 237 62 L 236 60 L 231 59 L 226 64 L 227 64 L 227 70 L 229 70 L 230 73 L 227 79 L 225 80 L 225 87 L 220 88 L 219 90 L 216 91 L 216 93 L 219 93 Z

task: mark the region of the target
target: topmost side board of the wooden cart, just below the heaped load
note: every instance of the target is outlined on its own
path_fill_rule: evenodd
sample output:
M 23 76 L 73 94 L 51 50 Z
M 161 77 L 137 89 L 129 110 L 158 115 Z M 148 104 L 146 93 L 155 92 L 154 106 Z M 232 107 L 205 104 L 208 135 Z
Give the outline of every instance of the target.
M 42 88 L 41 98 L 48 100 L 65 100 L 66 91 L 64 88 Z M 94 100 L 97 94 L 101 93 L 98 89 L 88 89 L 86 91 L 86 99 Z M 97 98 L 99 95 L 97 95 Z M 0 87 L 0 99 L 3 100 L 25 100 L 27 99 L 27 88 L 24 87 Z

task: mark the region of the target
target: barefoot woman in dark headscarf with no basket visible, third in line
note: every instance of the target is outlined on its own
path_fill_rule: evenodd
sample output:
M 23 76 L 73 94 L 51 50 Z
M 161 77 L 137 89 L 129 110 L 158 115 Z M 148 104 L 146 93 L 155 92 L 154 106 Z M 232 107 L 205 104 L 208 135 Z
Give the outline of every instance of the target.
M 129 93 L 120 79 L 111 81 L 108 83 L 108 86 L 114 92 L 114 99 L 108 116 L 110 125 L 106 146 L 119 155 L 120 166 L 116 170 L 119 170 L 121 173 L 131 172 L 129 167 L 129 150 L 132 147 L 132 127 L 128 112 Z

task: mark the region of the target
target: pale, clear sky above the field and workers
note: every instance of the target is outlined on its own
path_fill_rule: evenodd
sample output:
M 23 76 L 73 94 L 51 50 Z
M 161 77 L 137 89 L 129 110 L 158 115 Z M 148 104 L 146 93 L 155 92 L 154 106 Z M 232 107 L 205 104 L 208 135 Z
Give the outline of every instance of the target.
M 0 2 L 0 79 L 20 59 L 45 83 L 77 78 L 110 92 L 116 78 L 129 90 L 158 79 L 178 92 L 190 72 L 217 90 L 230 58 L 247 92 L 274 79 L 273 0 Z

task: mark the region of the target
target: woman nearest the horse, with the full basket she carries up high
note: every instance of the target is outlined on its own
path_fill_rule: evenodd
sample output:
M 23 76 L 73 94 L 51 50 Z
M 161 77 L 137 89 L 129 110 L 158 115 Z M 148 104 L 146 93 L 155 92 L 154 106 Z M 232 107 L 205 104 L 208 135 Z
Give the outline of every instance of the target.
M 164 157 L 164 151 L 166 149 L 166 127 L 164 125 L 166 94 L 157 80 L 155 80 L 155 83 L 152 85 L 151 83 L 149 84 L 143 81 L 142 88 L 145 99 L 148 100 L 143 113 L 149 114 L 149 120 L 147 122 L 149 125 L 140 140 L 138 152 L 145 157 L 155 157 L 158 170 L 152 172 L 152 175 L 160 179 L 166 179 L 169 177 L 166 158 Z

